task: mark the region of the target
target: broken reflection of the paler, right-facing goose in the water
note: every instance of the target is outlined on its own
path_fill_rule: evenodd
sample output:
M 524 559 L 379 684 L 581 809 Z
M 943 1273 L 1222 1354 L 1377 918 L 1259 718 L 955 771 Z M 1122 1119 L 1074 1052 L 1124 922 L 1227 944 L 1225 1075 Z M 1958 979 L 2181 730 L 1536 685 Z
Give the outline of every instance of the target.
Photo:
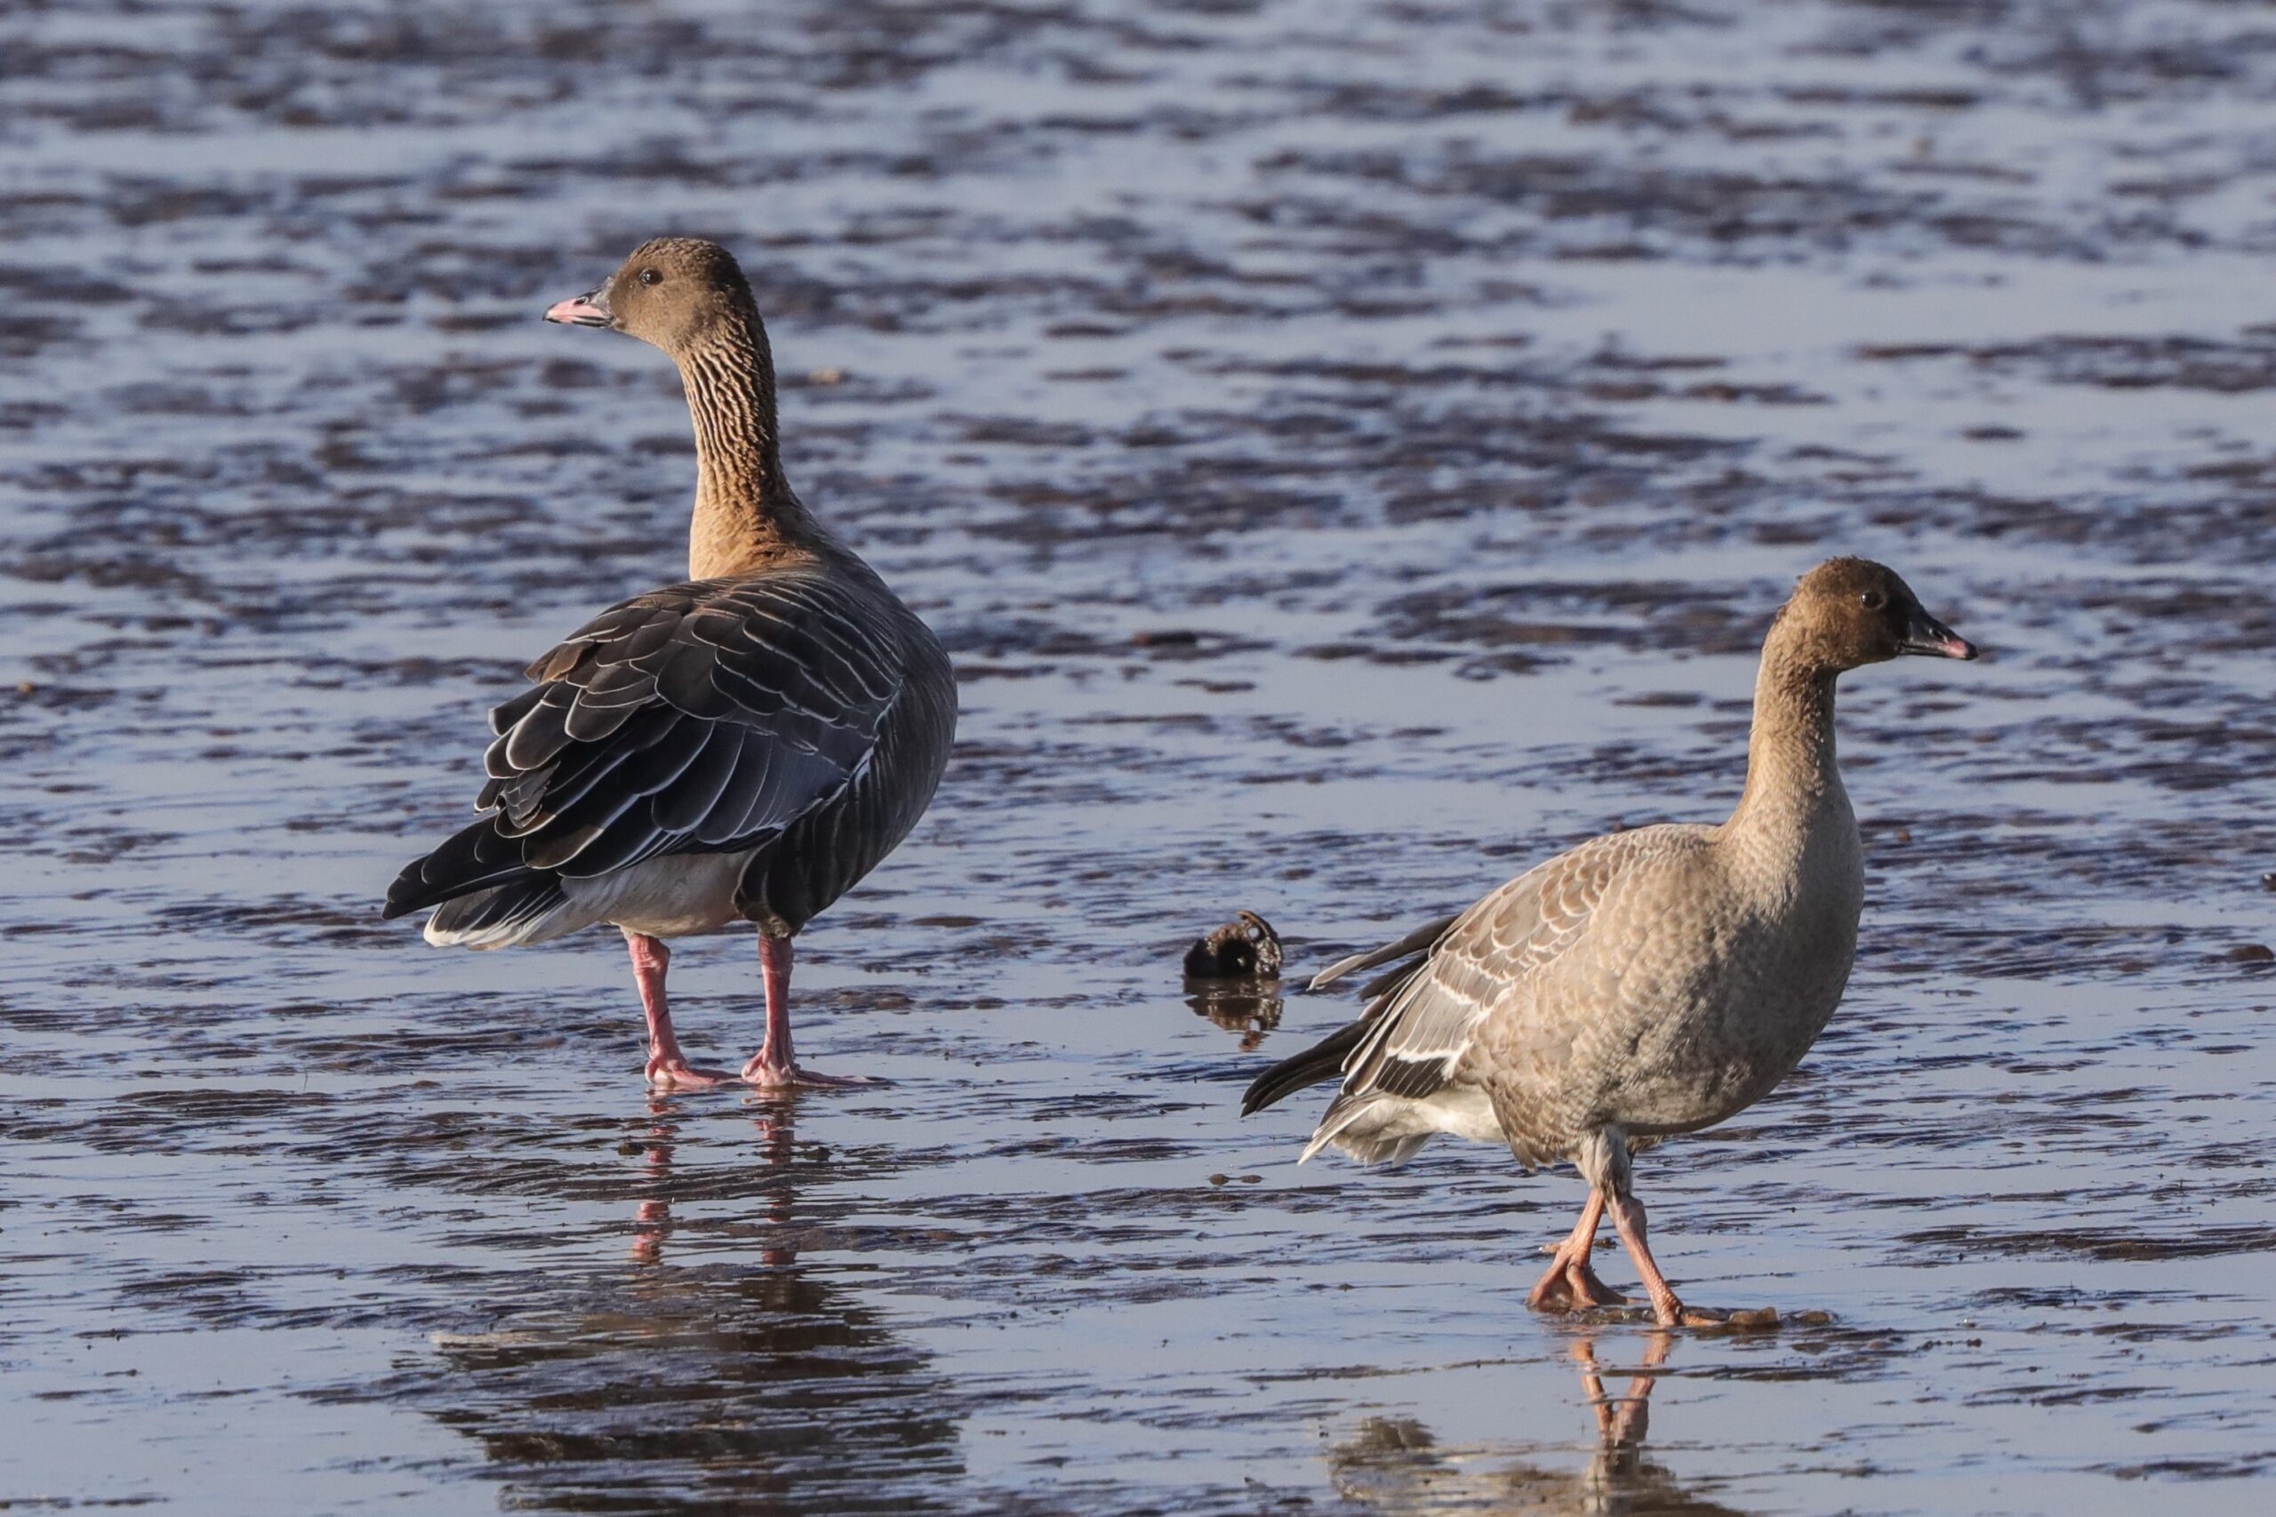
M 1420 1421 L 1370 1417 L 1329 1456 L 1336 1492 L 1402 1517 L 1739 1517 L 1737 1508 L 1687 1492 L 1664 1465 L 1643 1456 L 1655 1371 L 1671 1342 L 1666 1333 L 1643 1340 L 1643 1365 L 1618 1396 L 1605 1392 L 1595 1344 L 1584 1337 L 1573 1346 L 1598 1435 L 1577 1472 L 1525 1462 L 1484 1467 L 1475 1453 L 1438 1449 Z

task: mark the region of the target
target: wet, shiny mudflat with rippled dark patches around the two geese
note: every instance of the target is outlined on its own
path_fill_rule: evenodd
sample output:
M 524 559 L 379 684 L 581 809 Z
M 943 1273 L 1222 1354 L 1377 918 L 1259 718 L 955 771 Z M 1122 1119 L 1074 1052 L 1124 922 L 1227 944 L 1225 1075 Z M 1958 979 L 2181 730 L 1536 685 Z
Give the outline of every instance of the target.
M 0 1508 L 2265 1501 L 2276 20 L 98 2 L 0 57 Z M 801 942 L 801 1053 L 888 1089 L 649 1101 L 615 942 L 376 919 L 519 664 L 681 571 L 669 368 L 535 321 L 662 230 L 744 255 L 792 478 L 958 657 L 933 814 Z M 1350 1003 L 1188 998 L 1193 935 L 1309 973 L 1718 816 L 1834 550 L 1989 657 L 1848 680 L 1850 1001 L 1641 1164 L 1784 1331 L 1532 1317 L 1570 1176 L 1236 1121 Z M 674 983 L 749 1053 L 747 939 Z

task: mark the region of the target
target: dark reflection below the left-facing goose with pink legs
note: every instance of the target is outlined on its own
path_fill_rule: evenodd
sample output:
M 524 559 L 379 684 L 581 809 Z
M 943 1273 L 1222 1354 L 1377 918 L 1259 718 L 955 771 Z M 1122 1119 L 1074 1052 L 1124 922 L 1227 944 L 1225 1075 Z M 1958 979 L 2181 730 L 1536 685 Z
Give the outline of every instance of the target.
M 530 1269 L 492 1331 L 437 1335 L 412 1394 L 480 1444 L 505 1506 L 908 1515 L 965 1478 L 956 1387 L 799 1265 L 828 1158 L 787 1101 L 753 1110 L 756 1142 L 721 1144 L 717 1114 L 651 1103 L 612 1158 L 630 1258 Z

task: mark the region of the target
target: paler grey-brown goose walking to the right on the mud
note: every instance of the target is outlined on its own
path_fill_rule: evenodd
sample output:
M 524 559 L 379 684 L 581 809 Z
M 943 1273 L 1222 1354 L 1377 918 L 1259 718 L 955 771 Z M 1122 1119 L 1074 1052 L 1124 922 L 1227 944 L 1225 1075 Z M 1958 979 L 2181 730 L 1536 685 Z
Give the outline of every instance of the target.
M 1589 1203 L 1529 1303 L 1623 1301 L 1589 1265 L 1611 1210 L 1652 1315 L 1709 1319 L 1687 1315 L 1652 1262 L 1630 1155 L 1762 1101 L 1841 1001 L 1864 855 L 1834 762 L 1834 680 L 1900 653 L 1976 657 L 1894 571 L 1812 569 L 1762 646 L 1730 821 L 1591 839 L 1331 964 L 1313 987 L 1397 967 L 1366 987 L 1356 1023 L 1250 1085 L 1243 1114 L 1341 1073 L 1306 1160 L 1327 1144 L 1402 1160 L 1436 1133 L 1507 1142 L 1527 1169 L 1573 1160 Z

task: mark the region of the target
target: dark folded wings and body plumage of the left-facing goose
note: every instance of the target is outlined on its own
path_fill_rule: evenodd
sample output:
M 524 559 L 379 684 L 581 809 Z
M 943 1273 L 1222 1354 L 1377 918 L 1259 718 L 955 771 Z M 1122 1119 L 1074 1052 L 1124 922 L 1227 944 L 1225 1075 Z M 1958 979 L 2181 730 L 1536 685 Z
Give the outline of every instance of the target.
M 485 819 L 403 871 L 389 917 L 476 892 L 469 912 L 530 917 L 747 853 L 731 917 L 792 935 L 908 835 L 954 741 L 947 653 L 851 555 L 635 596 L 528 678 L 492 714 Z

